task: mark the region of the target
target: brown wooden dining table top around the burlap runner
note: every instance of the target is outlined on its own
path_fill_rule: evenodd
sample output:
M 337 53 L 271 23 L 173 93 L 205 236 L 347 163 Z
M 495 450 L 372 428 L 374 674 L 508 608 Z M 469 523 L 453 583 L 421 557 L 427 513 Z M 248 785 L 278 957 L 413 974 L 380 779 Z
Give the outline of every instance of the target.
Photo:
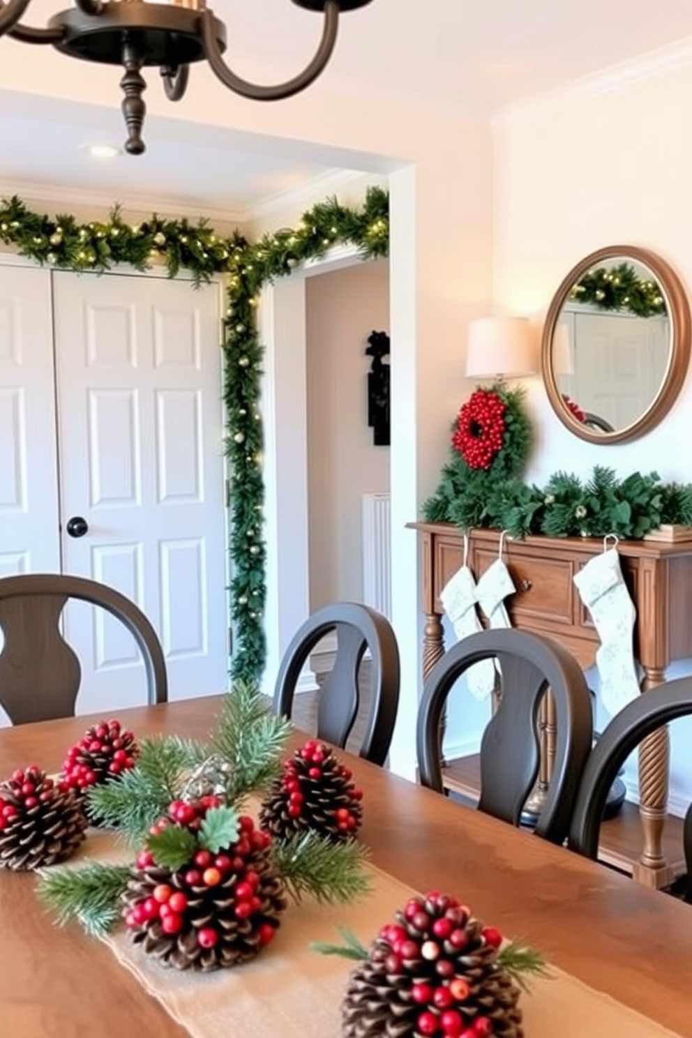
M 139 736 L 202 737 L 219 706 L 189 700 L 120 718 Z M 58 770 L 89 721 L 1 730 L 0 777 L 32 763 Z M 692 1038 L 692 907 L 340 753 L 363 789 L 360 836 L 379 869 L 417 891 L 453 893 L 551 964 Z M 77 925 L 57 928 L 34 886 L 31 874 L 0 870 L 3 1038 L 189 1038 L 105 944 Z M 373 926 L 385 921 L 375 913 Z M 583 1033 L 594 1034 L 588 1020 Z

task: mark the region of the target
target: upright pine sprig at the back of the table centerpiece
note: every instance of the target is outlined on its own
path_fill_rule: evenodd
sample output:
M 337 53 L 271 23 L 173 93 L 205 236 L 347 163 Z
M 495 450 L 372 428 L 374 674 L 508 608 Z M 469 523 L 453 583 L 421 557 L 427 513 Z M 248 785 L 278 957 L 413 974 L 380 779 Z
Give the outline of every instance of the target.
M 212 736 L 213 748 L 232 766 L 226 781 L 228 799 L 271 786 L 280 774 L 280 755 L 289 733 L 289 722 L 267 710 L 256 682 L 233 682 Z

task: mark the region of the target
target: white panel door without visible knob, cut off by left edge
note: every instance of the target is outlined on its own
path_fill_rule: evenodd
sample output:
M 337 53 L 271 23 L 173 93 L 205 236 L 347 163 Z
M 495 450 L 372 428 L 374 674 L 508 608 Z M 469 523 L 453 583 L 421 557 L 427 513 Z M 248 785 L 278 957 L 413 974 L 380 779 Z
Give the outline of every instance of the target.
M 58 572 L 51 275 L 0 267 L 0 577 Z

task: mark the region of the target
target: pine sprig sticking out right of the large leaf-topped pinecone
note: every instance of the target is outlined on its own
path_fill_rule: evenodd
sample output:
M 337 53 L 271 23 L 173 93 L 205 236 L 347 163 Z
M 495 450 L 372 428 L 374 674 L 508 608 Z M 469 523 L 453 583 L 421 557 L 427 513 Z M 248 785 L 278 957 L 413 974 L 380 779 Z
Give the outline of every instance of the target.
M 296 901 L 308 895 L 321 902 L 350 902 L 370 893 L 364 869 L 367 851 L 355 840 L 336 844 L 315 832 L 302 832 L 274 844 L 272 855 Z

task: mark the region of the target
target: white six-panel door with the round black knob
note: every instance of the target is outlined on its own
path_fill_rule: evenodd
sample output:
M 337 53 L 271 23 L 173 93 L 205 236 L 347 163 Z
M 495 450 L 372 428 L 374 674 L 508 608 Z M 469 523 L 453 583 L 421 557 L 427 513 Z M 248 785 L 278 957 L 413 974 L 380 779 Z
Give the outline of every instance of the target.
M 54 278 L 64 572 L 139 604 L 161 638 L 172 699 L 223 691 L 219 288 Z M 70 534 L 75 517 L 83 536 Z M 143 702 L 143 667 L 117 622 L 71 607 L 66 632 L 85 664 L 80 711 Z

